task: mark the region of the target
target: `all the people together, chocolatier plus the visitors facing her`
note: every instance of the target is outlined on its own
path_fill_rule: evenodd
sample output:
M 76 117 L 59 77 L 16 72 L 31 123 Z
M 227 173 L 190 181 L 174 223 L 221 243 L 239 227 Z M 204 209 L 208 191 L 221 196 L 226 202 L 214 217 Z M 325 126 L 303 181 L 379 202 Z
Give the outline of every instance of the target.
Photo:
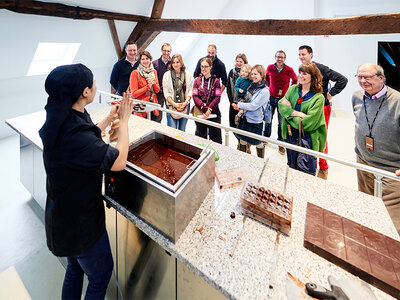
M 297 77 L 285 65 L 286 55 L 281 50 L 266 71 L 261 65 L 250 67 L 246 56 L 238 54 L 235 67 L 226 76 L 216 47 L 210 45 L 207 57 L 198 62 L 194 80 L 179 54 L 170 58 L 169 44 L 162 46 L 162 56 L 153 63 L 148 51 L 141 52 L 136 61 L 134 44 L 128 44 L 125 51 L 126 57 L 115 64 L 111 75 L 112 86 L 123 100 L 96 125 L 85 109 L 96 94 L 93 74 L 87 67 L 59 66 L 46 78 L 46 121 L 39 131 L 47 174 L 45 228 L 48 248 L 54 255 L 68 259 L 63 299 L 81 298 L 84 274 L 89 280 L 85 298 L 105 297 L 113 259 L 105 228 L 102 174 L 123 170 L 126 165 L 128 120 L 133 111 L 127 92 L 145 101 L 165 101 L 173 110 L 167 115 L 168 124 L 184 130 L 186 118 L 176 118 L 174 112 L 188 113 L 192 98 L 202 118 L 221 122 L 218 104 L 227 88 L 231 126 L 238 124 L 242 130 L 269 136 L 272 116 L 278 110 L 279 139 L 291 143 L 303 136 L 301 123 L 303 138 L 310 147 L 326 152 L 330 100 L 347 83 L 343 75 L 312 62 L 309 46 L 299 49 L 302 65 Z M 357 161 L 396 172 L 400 177 L 400 93 L 385 85 L 384 70 L 378 65 L 359 66 L 356 77 L 362 88 L 352 98 Z M 329 81 L 335 82 L 331 89 Z M 153 120 L 159 122 L 161 118 L 157 110 L 152 112 Z M 119 137 L 116 146 L 111 147 L 103 141 L 101 131 L 117 119 Z M 220 130 L 199 122 L 196 134 L 222 142 Z M 237 138 L 239 150 L 247 151 L 248 144 L 252 144 L 258 156 L 264 156 L 264 145 L 259 140 L 243 135 Z M 279 151 L 284 153 L 284 149 Z M 293 153 L 289 151 L 288 163 L 292 164 Z M 323 160 L 319 166 L 327 170 Z M 359 190 L 373 194 L 373 175 L 358 171 L 357 177 Z M 382 182 L 383 202 L 400 232 L 400 182 L 389 178 Z

